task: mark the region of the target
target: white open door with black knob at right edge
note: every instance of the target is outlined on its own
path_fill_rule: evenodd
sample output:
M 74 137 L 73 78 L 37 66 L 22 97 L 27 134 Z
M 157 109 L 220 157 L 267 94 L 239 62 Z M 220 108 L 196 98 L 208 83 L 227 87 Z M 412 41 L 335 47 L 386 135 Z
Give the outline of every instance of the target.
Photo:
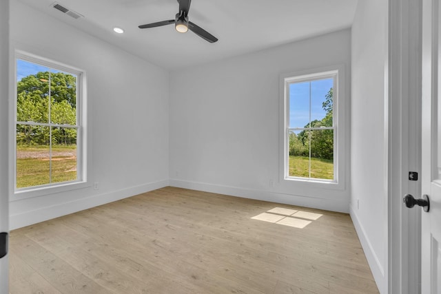
M 422 1 L 422 294 L 441 293 L 441 0 Z M 440 94 L 438 94 L 440 92 Z

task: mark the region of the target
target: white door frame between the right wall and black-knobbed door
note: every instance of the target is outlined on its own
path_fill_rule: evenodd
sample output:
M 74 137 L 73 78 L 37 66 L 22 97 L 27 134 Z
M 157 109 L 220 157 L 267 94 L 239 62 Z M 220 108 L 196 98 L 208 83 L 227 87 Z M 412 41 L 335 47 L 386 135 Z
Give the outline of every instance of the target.
M 387 121 L 388 291 L 421 291 L 421 209 L 407 209 L 404 194 L 421 196 L 421 16 L 422 4 L 389 0 Z M 419 177 L 420 178 L 420 177 Z

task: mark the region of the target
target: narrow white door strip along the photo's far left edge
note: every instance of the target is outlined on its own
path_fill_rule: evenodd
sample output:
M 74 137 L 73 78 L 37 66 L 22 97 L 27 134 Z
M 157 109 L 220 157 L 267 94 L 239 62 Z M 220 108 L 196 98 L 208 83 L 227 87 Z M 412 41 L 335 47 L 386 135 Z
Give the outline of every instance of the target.
M 0 0 L 0 232 L 8 232 L 9 1 Z M 0 256 L 2 250 L 0 235 Z M 8 255 L 0 259 L 0 293 L 8 291 Z

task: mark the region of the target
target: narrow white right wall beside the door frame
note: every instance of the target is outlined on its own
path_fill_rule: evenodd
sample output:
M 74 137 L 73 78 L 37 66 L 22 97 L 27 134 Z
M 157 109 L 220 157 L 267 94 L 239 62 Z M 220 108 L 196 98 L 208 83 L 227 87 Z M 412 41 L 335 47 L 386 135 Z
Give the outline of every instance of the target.
M 387 293 L 388 2 L 359 0 L 352 27 L 351 217 L 381 293 Z

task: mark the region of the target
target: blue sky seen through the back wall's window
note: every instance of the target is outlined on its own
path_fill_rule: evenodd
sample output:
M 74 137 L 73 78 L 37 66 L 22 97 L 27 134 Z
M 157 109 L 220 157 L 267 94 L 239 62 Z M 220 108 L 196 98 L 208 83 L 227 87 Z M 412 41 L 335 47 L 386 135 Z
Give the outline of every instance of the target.
M 289 85 L 289 127 L 305 127 L 309 123 L 309 99 L 311 99 L 311 121 L 325 117 L 322 103 L 333 79 L 325 78 L 316 81 L 291 83 Z

